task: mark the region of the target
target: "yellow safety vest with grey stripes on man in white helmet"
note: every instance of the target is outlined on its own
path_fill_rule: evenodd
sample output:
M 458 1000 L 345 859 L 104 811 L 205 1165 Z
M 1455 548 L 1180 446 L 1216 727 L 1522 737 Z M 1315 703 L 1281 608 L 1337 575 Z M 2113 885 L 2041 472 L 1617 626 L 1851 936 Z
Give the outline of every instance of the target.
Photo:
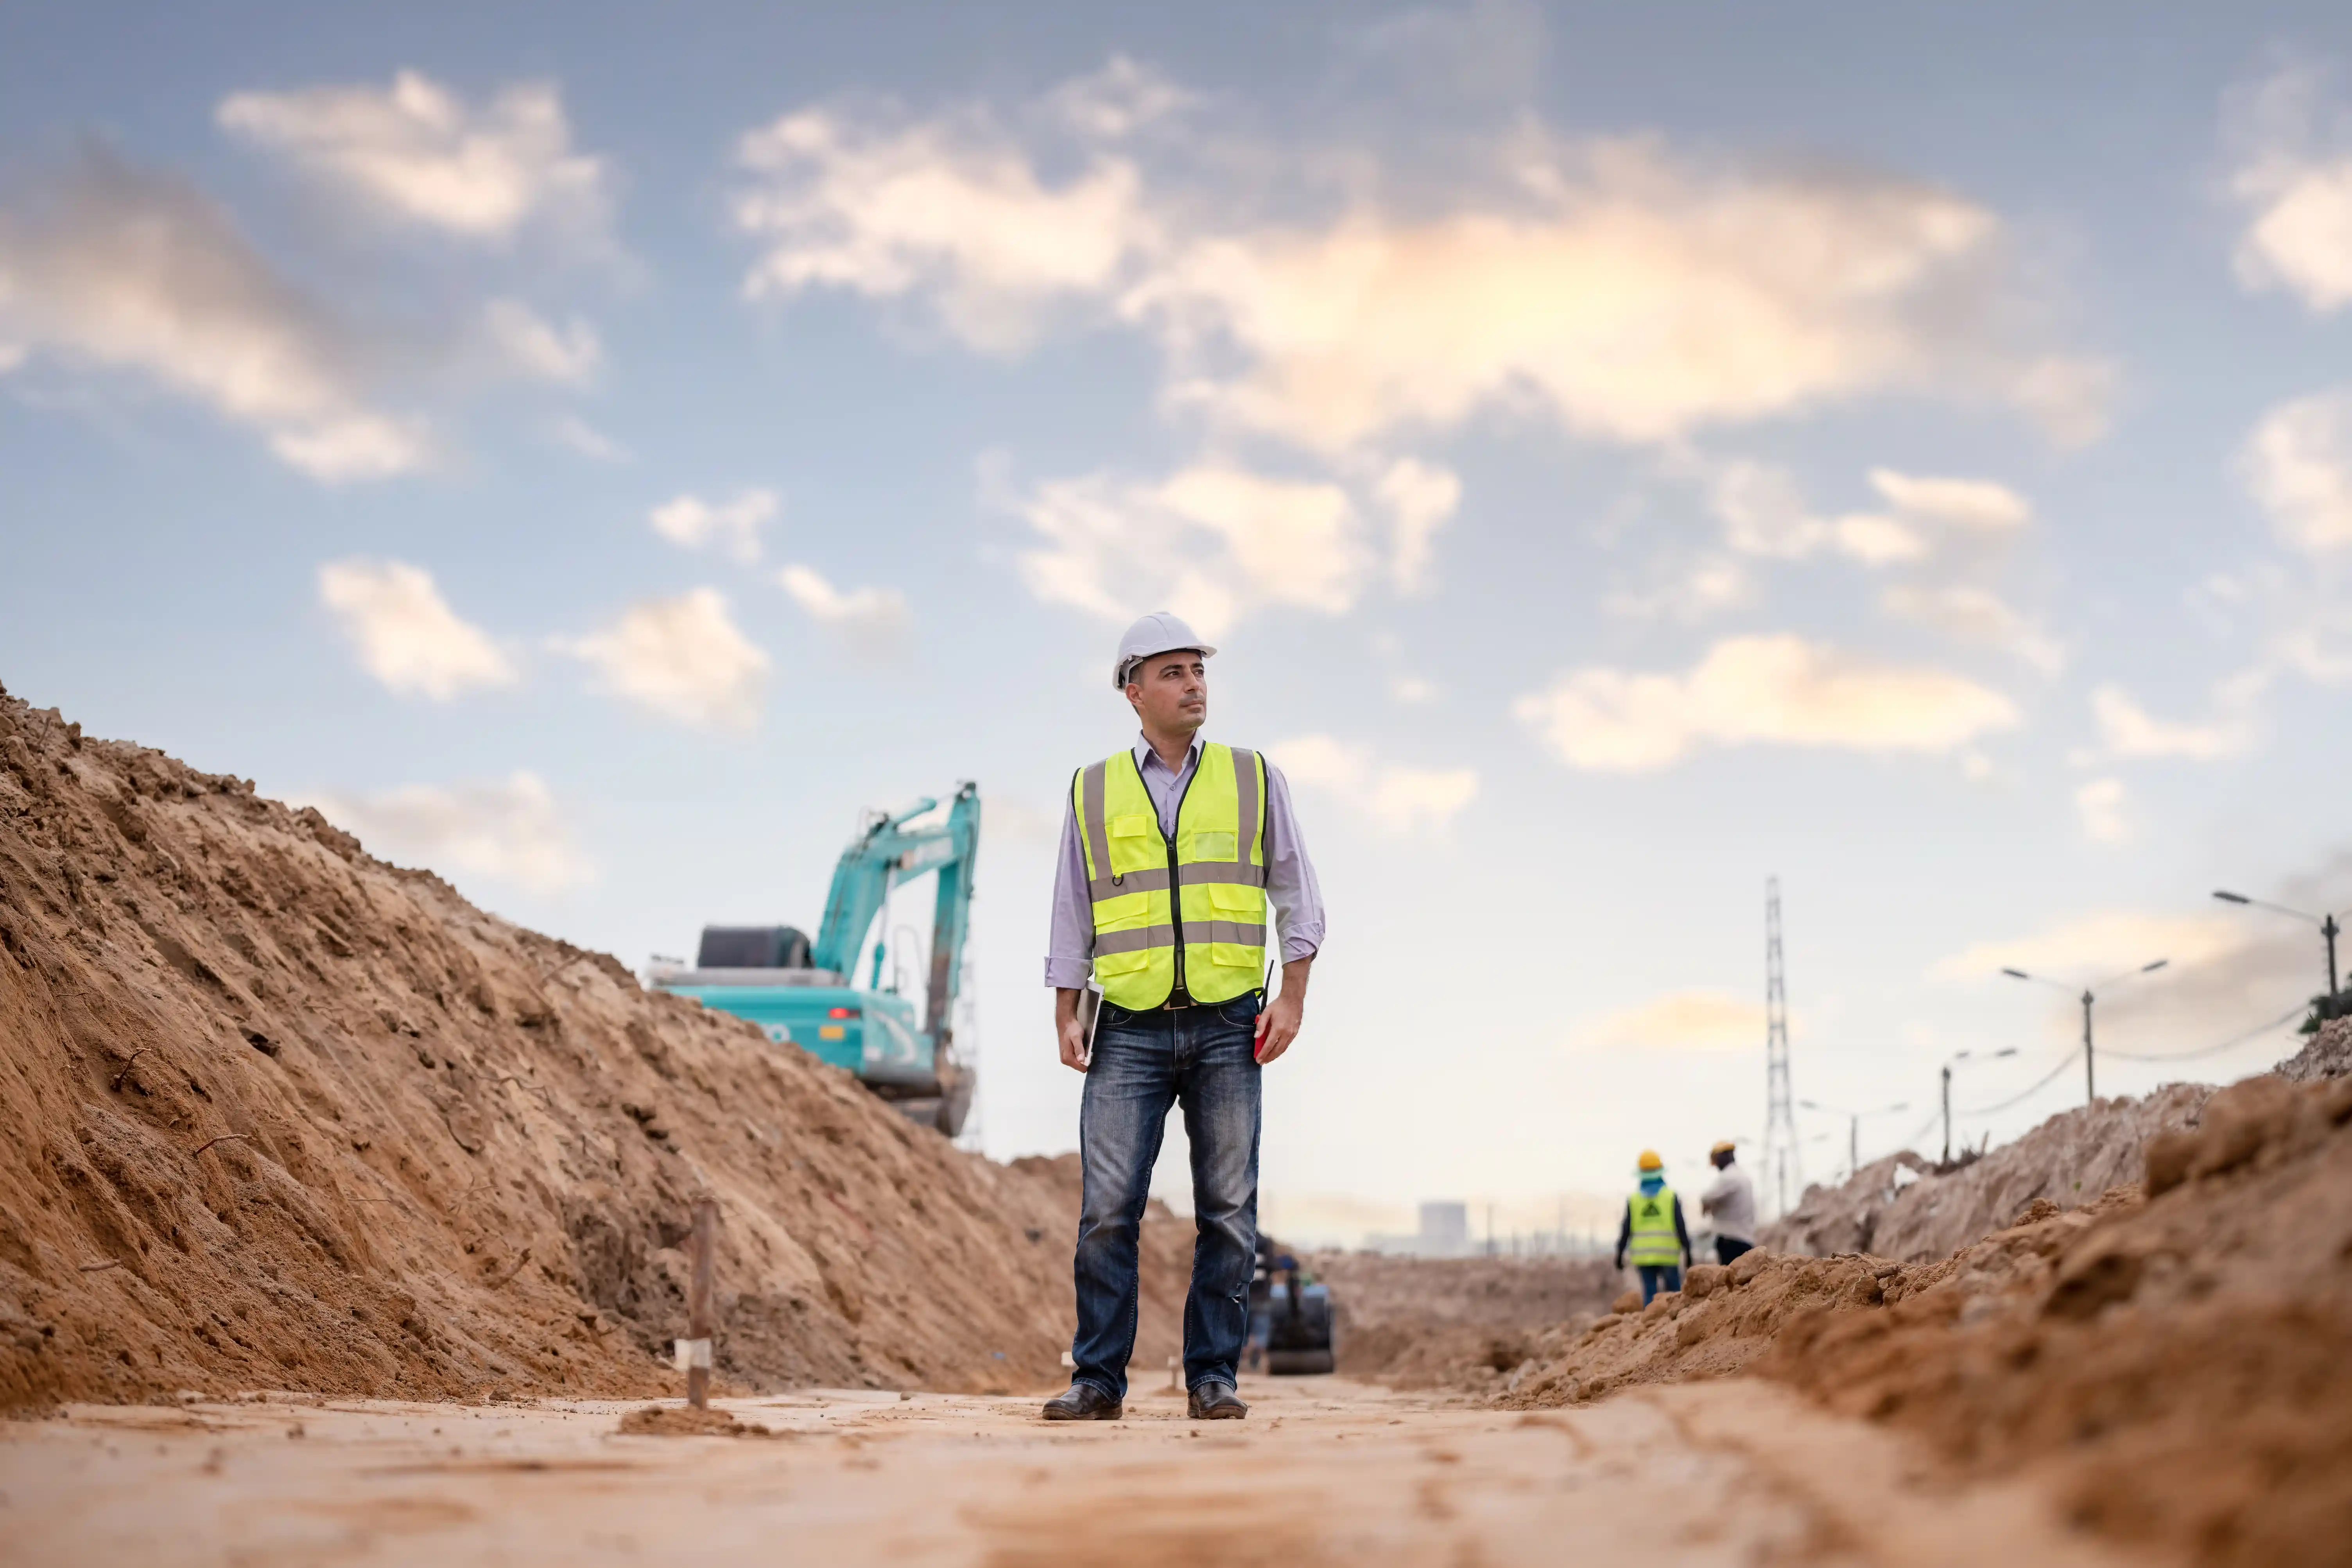
M 1232 1001 L 1265 983 L 1265 759 L 1202 745 L 1160 832 L 1134 752 L 1070 780 L 1094 898 L 1094 980 L 1124 1009 L 1162 1006 L 1183 980 L 1192 1001 Z M 1169 889 L 1183 910 L 1183 940 Z

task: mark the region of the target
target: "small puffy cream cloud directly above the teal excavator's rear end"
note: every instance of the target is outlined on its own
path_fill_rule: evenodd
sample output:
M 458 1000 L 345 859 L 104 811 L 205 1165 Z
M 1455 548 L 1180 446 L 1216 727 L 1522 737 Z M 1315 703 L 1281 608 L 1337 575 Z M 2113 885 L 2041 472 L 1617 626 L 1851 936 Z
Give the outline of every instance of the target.
M 557 639 L 555 649 L 593 665 L 612 696 L 666 719 L 713 729 L 760 724 L 769 658 L 736 630 L 715 588 L 642 599 L 602 632 Z

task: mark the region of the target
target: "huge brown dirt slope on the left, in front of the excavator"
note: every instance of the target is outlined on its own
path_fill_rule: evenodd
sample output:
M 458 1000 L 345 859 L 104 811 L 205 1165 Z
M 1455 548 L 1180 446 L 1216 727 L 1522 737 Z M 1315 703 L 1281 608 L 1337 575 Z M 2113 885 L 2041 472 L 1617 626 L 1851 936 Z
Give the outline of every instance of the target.
M 7 1406 L 673 1392 L 706 1194 L 729 1385 L 1061 1375 L 1075 1159 L 962 1154 L 318 811 L 5 693 L 0 1072 Z M 1157 1279 L 1183 1239 L 1148 1234 Z

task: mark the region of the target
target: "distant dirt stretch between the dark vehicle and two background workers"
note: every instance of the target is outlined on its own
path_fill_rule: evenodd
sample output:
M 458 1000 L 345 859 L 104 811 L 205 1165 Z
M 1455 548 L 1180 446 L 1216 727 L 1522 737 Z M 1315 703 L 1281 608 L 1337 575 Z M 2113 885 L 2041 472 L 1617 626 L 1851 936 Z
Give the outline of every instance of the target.
M 1338 1302 L 1338 1371 L 1390 1387 L 1489 1387 L 1536 1354 L 1536 1335 L 1606 1312 L 1604 1258 L 1392 1258 L 1315 1253 Z

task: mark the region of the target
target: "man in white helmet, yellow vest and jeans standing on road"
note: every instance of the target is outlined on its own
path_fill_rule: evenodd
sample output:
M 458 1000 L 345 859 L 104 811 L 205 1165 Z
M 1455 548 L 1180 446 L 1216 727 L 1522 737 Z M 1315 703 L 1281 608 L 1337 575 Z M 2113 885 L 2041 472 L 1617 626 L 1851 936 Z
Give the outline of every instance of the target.
M 1240 1420 L 1258 1232 L 1258 1070 L 1298 1034 L 1322 945 L 1322 893 L 1291 792 L 1258 752 L 1200 741 L 1216 654 L 1169 614 L 1120 642 L 1110 684 L 1143 736 L 1080 769 L 1054 877 L 1061 1060 L 1087 1074 L 1077 1147 L 1077 1335 L 1047 1420 L 1117 1420 L 1136 1347 L 1136 1227 L 1171 1105 L 1192 1143 L 1192 1291 L 1183 1368 L 1195 1420 Z M 1282 992 L 1268 1001 L 1268 914 L 1282 912 Z M 1089 1030 L 1089 978 L 1101 1009 Z

